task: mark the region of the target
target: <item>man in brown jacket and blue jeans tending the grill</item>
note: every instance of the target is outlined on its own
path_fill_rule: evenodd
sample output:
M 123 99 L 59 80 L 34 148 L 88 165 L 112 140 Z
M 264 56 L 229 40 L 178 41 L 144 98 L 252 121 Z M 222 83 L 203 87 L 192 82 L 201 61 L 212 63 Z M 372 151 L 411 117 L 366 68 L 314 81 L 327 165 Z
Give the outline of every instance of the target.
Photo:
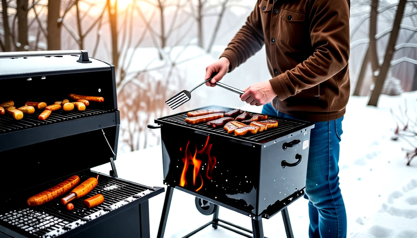
M 350 90 L 349 9 L 350 0 L 257 0 L 219 60 L 206 68 L 206 78 L 217 72 L 206 83 L 215 86 L 265 44 L 272 78 L 250 85 L 241 100 L 266 104 L 269 114 L 315 122 L 305 196 L 310 237 L 346 237 L 337 163 Z

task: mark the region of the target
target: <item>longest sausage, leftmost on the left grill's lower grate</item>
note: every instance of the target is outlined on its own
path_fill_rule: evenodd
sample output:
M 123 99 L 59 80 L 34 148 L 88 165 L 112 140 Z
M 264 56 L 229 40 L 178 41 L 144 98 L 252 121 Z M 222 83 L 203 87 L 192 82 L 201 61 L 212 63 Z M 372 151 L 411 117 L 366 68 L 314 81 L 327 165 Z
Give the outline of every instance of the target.
M 80 183 L 80 177 L 77 175 L 68 178 L 67 180 L 63 181 L 62 183 L 43 191 L 42 193 L 38 193 L 28 199 L 28 205 L 30 206 L 38 206 L 44 203 L 49 202 L 55 198 L 58 198 L 60 195 L 68 192 L 71 188 L 75 187 L 78 183 Z

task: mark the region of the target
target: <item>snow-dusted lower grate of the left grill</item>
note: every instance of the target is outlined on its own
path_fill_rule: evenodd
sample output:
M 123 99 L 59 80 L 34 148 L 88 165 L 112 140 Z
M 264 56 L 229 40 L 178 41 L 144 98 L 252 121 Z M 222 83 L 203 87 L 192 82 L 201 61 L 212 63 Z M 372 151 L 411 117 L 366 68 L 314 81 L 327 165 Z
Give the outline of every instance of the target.
M 78 174 L 78 176 L 80 177 L 80 183 L 82 183 L 90 177 L 96 177 L 97 173 L 89 171 Z M 50 185 L 48 188 L 52 186 L 53 185 Z M 125 200 L 126 198 L 135 196 L 138 193 L 143 193 L 143 191 L 147 189 L 148 188 L 137 184 L 100 175 L 98 177 L 98 185 L 93 189 L 93 191 L 84 197 L 89 198 L 98 193 L 102 194 L 104 196 L 104 202 L 95 208 L 85 208 L 83 204 L 84 199 L 81 198 L 73 200 L 71 203 L 74 204 L 74 209 L 68 211 L 65 206 L 60 204 L 60 198 L 57 198 L 38 207 L 28 207 L 26 205 L 25 207 L 15 208 L 12 210 L 10 207 L 13 206 L 5 206 L 8 207 L 8 211 L 0 213 L 0 221 L 1 223 L 5 223 L 6 226 L 15 226 L 30 234 L 42 237 L 43 235 L 60 228 L 63 228 L 64 230 L 71 230 L 74 227 L 68 228 L 68 224 L 77 220 L 92 220 L 93 218 L 88 218 L 89 215 L 103 210 L 106 211 L 106 209 L 113 210 L 109 209 L 109 207 L 115 203 Z

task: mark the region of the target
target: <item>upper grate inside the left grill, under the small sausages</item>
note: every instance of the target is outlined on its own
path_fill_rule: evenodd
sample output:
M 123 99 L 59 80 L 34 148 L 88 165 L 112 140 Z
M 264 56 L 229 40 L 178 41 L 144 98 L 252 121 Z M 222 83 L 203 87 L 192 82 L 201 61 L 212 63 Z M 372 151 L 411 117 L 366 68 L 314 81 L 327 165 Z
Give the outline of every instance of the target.
M 39 120 L 39 114 L 43 110 L 35 110 L 35 113 L 23 116 L 22 120 L 13 119 L 12 115 L 5 113 L 5 115 L 0 115 L 0 135 L 3 133 L 9 133 L 16 130 L 24 130 L 27 128 L 33 128 L 42 125 L 48 125 L 52 123 L 58 123 L 65 120 L 72 120 L 76 118 L 83 118 L 93 115 L 99 115 L 104 113 L 113 112 L 114 110 L 104 110 L 104 109 L 94 109 L 88 107 L 83 111 L 78 111 L 76 109 L 72 111 L 56 110 L 51 113 L 51 115 L 46 120 Z

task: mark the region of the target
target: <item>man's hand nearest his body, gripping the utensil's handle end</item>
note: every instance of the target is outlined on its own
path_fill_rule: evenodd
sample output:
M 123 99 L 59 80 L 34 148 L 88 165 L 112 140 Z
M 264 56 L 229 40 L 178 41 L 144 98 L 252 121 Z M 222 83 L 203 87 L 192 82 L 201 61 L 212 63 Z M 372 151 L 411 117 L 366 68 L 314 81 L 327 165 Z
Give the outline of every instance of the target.
M 240 100 L 246 101 L 246 103 L 249 103 L 250 105 L 264 105 L 271 102 L 276 97 L 276 93 L 272 89 L 269 81 L 254 83 L 244 91 L 245 93 L 241 95 Z

